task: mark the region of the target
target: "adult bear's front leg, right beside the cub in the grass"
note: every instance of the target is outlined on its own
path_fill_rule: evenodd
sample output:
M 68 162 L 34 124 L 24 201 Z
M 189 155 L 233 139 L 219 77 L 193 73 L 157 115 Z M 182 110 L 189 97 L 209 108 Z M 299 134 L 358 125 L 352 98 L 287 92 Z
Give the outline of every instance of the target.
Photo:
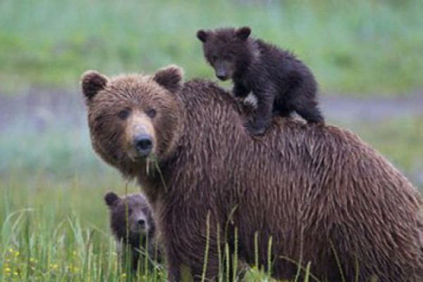
M 187 208 L 188 206 L 188 208 Z M 168 207 L 168 205 L 166 205 Z M 178 216 L 175 216 L 177 214 Z M 159 223 L 168 269 L 168 281 L 202 281 L 203 271 L 207 281 L 216 281 L 219 276 L 219 252 L 224 250 L 223 231 L 218 226 L 217 216 L 207 215 L 195 205 L 173 204 Z M 207 255 L 207 259 L 204 258 Z M 204 265 L 207 263 L 207 265 Z

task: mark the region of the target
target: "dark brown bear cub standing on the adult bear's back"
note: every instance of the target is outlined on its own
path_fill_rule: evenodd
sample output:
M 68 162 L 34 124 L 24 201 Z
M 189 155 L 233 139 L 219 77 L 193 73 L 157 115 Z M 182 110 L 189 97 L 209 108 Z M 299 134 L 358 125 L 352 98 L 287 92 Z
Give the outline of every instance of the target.
M 317 107 L 317 82 L 312 72 L 288 51 L 250 37 L 250 27 L 199 30 L 204 56 L 219 80 L 233 80 L 233 95 L 257 100 L 250 133 L 259 135 L 271 123 L 272 113 L 297 112 L 309 123 L 324 123 Z

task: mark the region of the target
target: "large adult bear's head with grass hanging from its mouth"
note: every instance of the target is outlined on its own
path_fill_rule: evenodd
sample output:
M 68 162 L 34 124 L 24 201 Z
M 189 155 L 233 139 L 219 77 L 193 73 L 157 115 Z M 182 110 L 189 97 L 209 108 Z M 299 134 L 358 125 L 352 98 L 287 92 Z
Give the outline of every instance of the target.
M 94 150 L 104 161 L 133 178 L 152 161 L 163 161 L 182 130 L 182 106 L 176 92 L 183 72 L 168 66 L 155 75 L 107 78 L 97 71 L 82 75 L 82 93 Z

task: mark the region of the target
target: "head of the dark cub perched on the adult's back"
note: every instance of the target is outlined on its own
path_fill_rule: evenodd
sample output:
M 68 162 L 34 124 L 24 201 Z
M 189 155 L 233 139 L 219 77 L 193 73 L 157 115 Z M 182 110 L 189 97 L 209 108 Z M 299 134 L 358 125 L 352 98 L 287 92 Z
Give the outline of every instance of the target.
M 233 73 L 245 68 L 250 59 L 250 27 L 199 30 L 197 38 L 203 44 L 204 57 L 214 68 L 219 80 L 233 78 Z

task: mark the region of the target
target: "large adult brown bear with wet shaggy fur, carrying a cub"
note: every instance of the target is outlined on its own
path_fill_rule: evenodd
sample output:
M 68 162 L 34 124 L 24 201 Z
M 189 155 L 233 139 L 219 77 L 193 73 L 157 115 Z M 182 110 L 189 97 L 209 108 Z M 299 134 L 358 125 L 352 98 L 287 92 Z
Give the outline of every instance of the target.
M 274 278 L 422 281 L 422 197 L 348 130 L 274 118 L 252 137 L 244 104 L 176 66 L 88 71 L 82 93 L 94 150 L 152 206 L 169 281 L 219 279 L 223 250 Z

